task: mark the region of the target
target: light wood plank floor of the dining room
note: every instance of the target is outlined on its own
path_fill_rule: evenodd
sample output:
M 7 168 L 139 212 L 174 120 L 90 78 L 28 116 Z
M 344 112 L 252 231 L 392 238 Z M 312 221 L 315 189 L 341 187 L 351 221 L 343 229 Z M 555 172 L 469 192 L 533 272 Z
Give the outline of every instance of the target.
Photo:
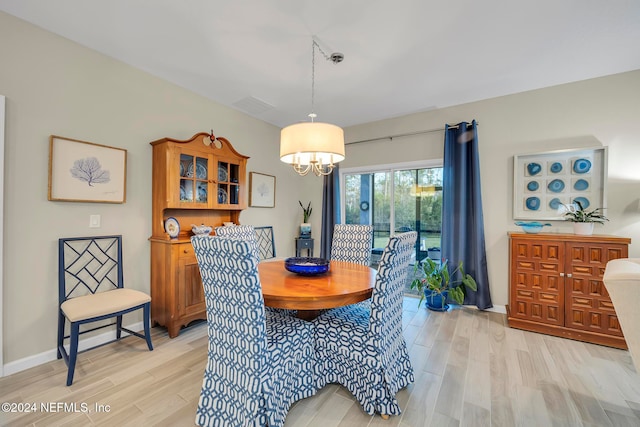
M 508 328 L 505 316 L 417 309 L 405 298 L 405 337 L 416 381 L 398 394 L 403 414 L 366 415 L 329 385 L 297 402 L 286 426 L 640 426 L 640 376 L 628 352 Z M 128 337 L 79 356 L 0 378 L 2 402 L 70 402 L 79 412 L 0 413 L 3 426 L 192 426 L 206 359 L 206 325 L 155 350 Z M 95 404 L 109 405 L 96 412 Z M 88 413 L 82 411 L 87 405 Z

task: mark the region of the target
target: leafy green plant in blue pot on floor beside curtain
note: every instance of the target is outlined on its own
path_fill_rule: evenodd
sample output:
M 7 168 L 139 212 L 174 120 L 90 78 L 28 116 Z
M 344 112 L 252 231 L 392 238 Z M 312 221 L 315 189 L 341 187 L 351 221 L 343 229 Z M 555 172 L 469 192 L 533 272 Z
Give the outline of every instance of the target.
M 430 310 L 446 311 L 449 308 L 447 297 L 463 304 L 466 290 L 478 289 L 475 279 L 462 269 L 462 261 L 453 271 L 449 271 L 448 260 L 437 263 L 431 258 L 426 258 L 416 264 L 415 276 L 411 282 L 411 289 L 417 289 L 421 294 L 418 306 L 426 299 L 427 308 Z

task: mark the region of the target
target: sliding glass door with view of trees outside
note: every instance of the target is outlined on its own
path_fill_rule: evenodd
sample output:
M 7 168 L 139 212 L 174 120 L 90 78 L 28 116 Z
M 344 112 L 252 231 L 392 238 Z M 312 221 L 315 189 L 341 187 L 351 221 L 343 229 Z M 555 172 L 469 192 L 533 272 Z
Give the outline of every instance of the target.
M 343 174 L 346 224 L 373 225 L 373 247 L 389 236 L 415 230 L 416 259 L 440 259 L 442 168 L 397 169 Z

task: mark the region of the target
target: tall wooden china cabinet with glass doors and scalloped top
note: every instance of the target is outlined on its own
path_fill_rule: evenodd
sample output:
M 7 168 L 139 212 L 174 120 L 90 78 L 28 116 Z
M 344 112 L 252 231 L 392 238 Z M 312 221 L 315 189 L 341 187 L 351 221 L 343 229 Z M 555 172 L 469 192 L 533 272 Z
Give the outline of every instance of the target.
M 151 145 L 151 321 L 174 338 L 181 327 L 207 318 L 191 226 L 239 224 L 247 207 L 248 157 L 227 139 L 208 133 L 184 141 L 162 138 Z M 172 238 L 166 229 L 177 231 L 176 222 L 179 232 Z

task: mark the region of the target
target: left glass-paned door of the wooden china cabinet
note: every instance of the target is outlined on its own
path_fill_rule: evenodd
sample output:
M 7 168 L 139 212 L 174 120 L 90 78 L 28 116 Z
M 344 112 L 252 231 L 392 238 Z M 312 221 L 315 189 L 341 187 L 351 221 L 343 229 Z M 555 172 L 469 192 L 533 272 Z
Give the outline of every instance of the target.
M 209 161 L 188 153 L 180 154 L 180 203 L 209 203 Z

